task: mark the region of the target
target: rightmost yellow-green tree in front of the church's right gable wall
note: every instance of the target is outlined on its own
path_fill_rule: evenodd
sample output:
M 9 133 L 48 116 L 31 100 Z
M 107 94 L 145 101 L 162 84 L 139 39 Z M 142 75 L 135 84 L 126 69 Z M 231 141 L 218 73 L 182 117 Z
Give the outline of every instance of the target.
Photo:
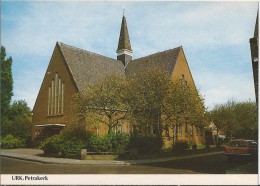
M 174 123 L 176 140 L 178 127 L 182 124 L 206 125 L 204 99 L 200 93 L 183 81 L 171 82 L 163 101 L 165 123 Z

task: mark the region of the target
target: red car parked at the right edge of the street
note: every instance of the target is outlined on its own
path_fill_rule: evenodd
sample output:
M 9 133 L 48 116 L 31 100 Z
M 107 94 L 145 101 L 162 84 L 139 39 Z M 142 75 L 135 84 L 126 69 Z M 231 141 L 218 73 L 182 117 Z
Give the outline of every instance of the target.
M 229 160 L 236 157 L 257 157 L 255 140 L 232 139 L 225 145 L 225 154 Z

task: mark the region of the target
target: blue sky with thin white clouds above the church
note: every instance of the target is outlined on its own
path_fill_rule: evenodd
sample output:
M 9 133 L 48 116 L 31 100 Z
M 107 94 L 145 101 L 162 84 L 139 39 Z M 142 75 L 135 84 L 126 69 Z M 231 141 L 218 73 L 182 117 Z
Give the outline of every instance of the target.
M 116 59 L 123 9 L 133 58 L 182 46 L 210 110 L 255 101 L 249 39 L 258 1 L 6 1 L 1 45 L 14 96 L 33 109 L 57 41 Z

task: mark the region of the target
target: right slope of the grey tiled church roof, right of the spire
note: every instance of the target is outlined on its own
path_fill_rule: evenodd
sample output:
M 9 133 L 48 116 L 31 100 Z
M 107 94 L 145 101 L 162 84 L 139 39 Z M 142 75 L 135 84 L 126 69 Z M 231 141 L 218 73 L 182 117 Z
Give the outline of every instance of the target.
M 125 70 L 126 77 L 133 77 L 151 68 L 159 68 L 171 75 L 181 48 L 165 50 L 130 61 Z

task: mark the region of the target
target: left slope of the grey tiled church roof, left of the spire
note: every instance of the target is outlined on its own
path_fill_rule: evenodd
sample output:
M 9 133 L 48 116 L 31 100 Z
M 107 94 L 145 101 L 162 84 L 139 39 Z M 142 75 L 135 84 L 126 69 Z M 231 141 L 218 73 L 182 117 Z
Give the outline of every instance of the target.
M 79 91 L 111 74 L 125 76 L 121 61 L 57 42 Z

